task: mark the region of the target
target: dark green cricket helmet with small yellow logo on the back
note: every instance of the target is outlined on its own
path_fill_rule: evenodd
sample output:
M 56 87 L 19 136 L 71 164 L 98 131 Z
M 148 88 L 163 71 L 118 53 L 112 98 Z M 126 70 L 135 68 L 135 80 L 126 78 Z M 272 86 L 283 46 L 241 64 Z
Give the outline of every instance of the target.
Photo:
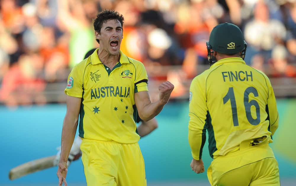
M 242 31 L 237 25 L 231 23 L 222 23 L 215 26 L 210 34 L 210 40 L 207 42 L 208 57 L 211 50 L 223 54 L 242 53 L 244 58 L 247 43 L 244 41 Z M 210 62 L 211 63 L 211 62 Z

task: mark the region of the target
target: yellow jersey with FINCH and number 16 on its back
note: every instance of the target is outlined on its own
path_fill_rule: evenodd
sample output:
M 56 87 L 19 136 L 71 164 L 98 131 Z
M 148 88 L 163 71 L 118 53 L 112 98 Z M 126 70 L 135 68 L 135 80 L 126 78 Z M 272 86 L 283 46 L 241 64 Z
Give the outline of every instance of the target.
M 190 86 L 189 144 L 199 160 L 208 131 L 212 158 L 239 150 L 243 141 L 272 135 L 278 127 L 276 99 L 268 77 L 242 58 L 224 58 Z

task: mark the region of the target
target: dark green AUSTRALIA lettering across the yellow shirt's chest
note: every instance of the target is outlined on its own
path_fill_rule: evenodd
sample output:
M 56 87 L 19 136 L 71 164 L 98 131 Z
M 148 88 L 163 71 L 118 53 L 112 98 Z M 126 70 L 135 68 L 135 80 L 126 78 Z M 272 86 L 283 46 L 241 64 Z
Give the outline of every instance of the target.
M 91 99 L 100 97 L 129 97 L 130 87 L 98 87 L 91 89 Z

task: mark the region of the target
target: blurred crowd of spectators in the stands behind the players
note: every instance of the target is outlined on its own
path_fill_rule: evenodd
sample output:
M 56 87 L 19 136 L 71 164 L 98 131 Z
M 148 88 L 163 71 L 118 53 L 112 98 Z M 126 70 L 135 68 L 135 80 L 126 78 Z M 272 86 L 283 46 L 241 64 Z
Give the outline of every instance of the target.
M 0 102 L 8 106 L 50 102 L 49 84 L 66 86 L 71 68 L 99 47 L 93 19 L 104 9 L 125 18 L 123 53 L 144 63 L 149 80 L 172 81 L 174 97 L 208 65 L 205 42 L 223 22 L 242 29 L 247 64 L 270 77 L 296 77 L 296 0 L 0 2 Z

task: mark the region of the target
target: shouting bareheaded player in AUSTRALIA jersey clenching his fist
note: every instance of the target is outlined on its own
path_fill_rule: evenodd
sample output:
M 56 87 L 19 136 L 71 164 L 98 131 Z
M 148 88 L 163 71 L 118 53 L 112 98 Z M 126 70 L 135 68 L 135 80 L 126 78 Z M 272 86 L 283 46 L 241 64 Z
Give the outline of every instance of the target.
M 57 171 L 59 186 L 67 185 L 67 159 L 78 118 L 87 185 L 147 185 L 138 144 L 137 111 L 144 121 L 154 118 L 168 102 L 174 86 L 169 81 L 162 83 L 159 100 L 151 102 L 144 65 L 120 51 L 123 20 L 114 10 L 97 15 L 94 30 L 100 48 L 78 63 L 68 77 L 67 112 Z

